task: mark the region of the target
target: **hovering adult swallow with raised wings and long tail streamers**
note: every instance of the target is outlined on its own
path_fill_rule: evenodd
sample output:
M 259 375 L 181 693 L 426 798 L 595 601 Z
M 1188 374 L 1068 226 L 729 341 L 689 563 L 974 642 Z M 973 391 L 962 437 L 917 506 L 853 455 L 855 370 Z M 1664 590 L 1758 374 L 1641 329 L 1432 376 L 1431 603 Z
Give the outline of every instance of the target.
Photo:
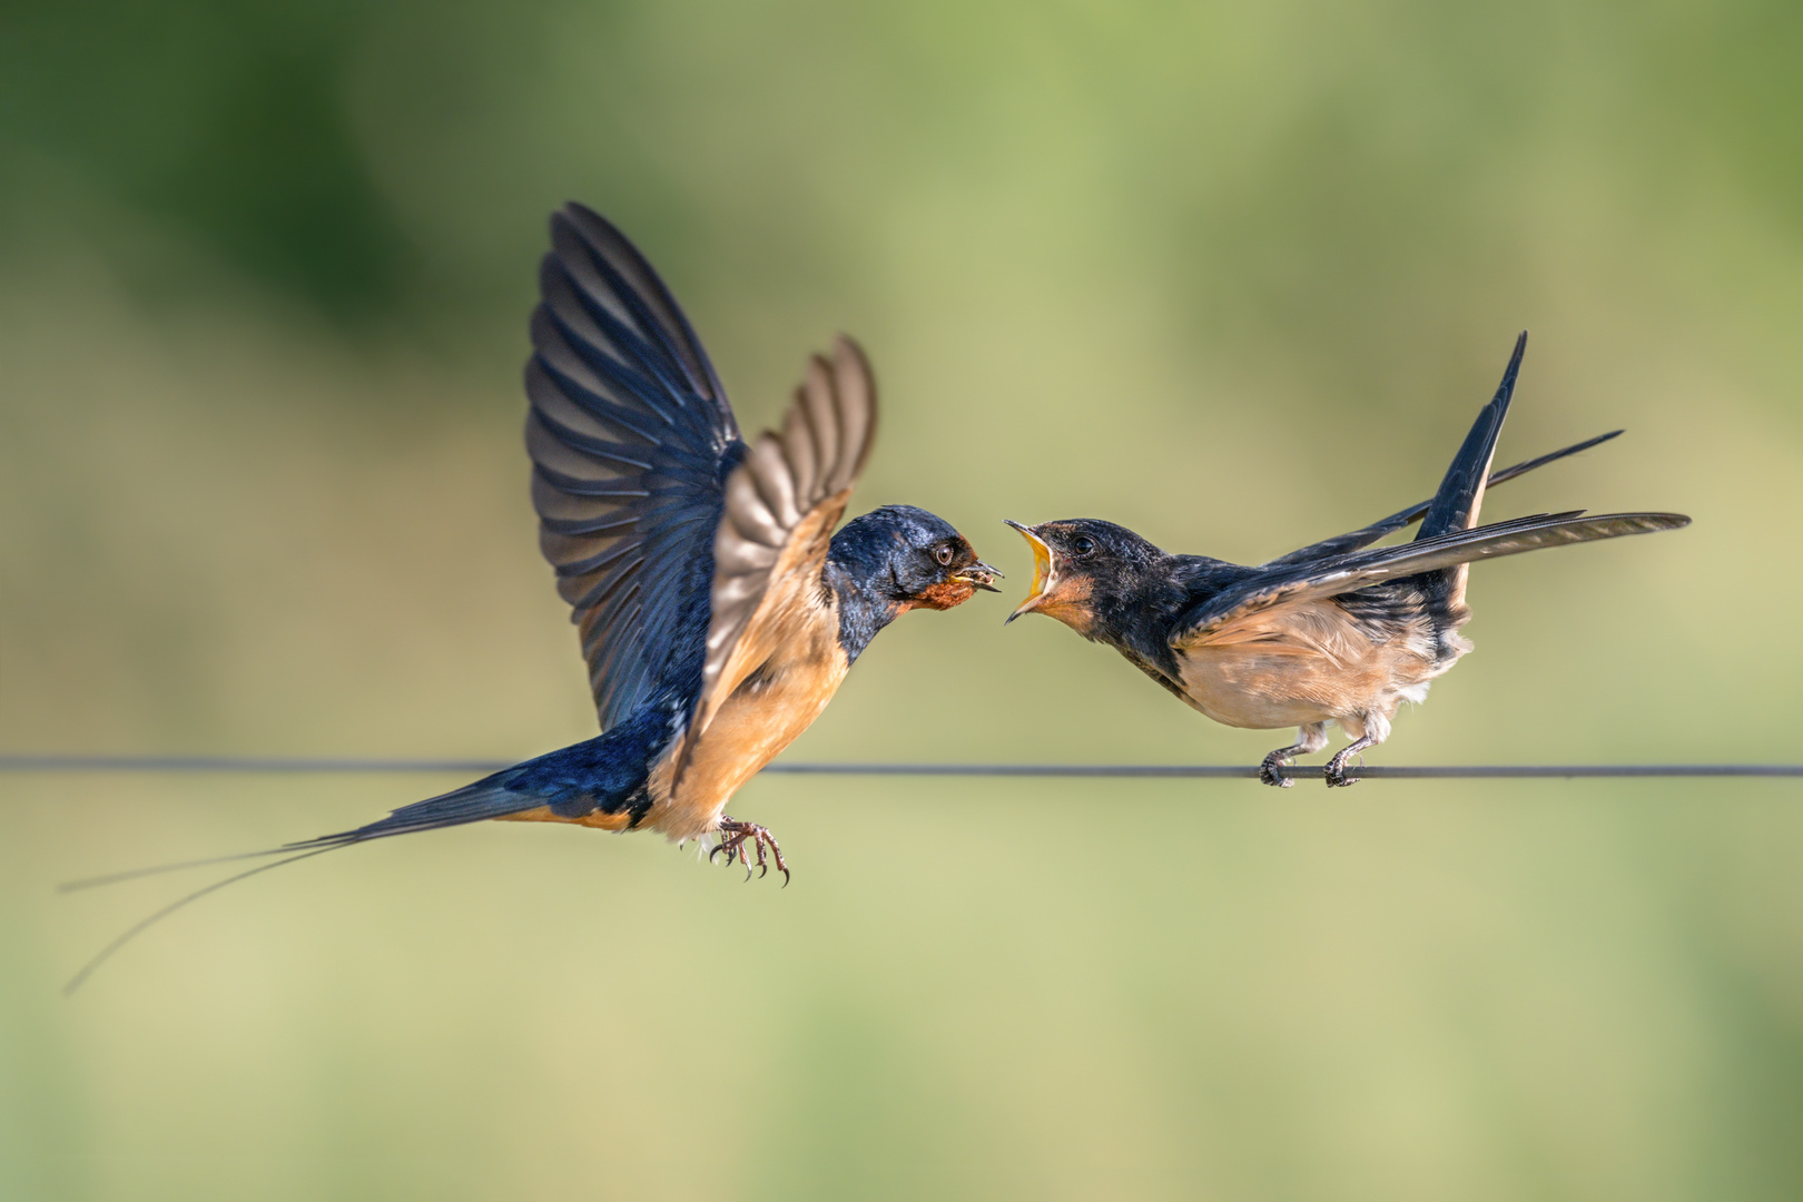
M 851 339 L 810 362 L 783 429 L 746 445 L 674 297 L 604 218 L 577 204 L 552 216 L 539 290 L 532 503 L 602 733 L 353 831 L 251 852 L 288 858 L 168 910 L 301 856 L 483 818 L 707 838 L 710 856 L 746 874 L 773 863 L 786 883 L 770 831 L 725 815 L 732 793 L 820 715 L 885 625 L 997 591 L 1001 573 L 927 510 L 889 505 L 835 533 L 876 434 L 876 384 Z M 168 867 L 193 863 L 215 861 Z

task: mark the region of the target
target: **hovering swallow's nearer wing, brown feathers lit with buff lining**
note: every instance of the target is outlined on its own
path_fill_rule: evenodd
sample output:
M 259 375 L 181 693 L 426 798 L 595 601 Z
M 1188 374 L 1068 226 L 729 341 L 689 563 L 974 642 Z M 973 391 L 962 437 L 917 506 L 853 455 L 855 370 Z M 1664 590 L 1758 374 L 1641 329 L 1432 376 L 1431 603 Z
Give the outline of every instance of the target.
M 876 380 L 858 344 L 815 355 L 783 418 L 727 479 L 712 616 L 691 737 L 801 624 L 819 615 L 828 544 L 876 438 Z

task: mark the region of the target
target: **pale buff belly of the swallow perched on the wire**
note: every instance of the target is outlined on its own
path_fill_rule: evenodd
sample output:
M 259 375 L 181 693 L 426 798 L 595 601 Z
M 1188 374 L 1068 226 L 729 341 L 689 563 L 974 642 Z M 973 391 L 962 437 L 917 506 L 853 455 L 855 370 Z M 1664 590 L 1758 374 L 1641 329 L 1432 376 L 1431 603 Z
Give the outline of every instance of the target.
M 1377 638 L 1332 600 L 1277 606 L 1179 647 L 1185 701 L 1226 726 L 1275 730 L 1338 721 L 1356 737 L 1387 730 L 1403 701 L 1469 651 L 1435 658 L 1428 622 Z

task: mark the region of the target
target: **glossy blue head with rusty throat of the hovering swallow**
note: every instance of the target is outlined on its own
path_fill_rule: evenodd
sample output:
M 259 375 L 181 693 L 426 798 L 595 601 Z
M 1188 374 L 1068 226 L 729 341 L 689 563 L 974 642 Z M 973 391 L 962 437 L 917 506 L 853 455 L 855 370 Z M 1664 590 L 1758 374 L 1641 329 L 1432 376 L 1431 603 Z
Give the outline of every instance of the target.
M 977 559 L 970 541 L 938 514 L 885 505 L 855 517 L 833 535 L 833 559 L 907 609 L 950 609 L 977 589 L 999 593 L 1002 573 Z

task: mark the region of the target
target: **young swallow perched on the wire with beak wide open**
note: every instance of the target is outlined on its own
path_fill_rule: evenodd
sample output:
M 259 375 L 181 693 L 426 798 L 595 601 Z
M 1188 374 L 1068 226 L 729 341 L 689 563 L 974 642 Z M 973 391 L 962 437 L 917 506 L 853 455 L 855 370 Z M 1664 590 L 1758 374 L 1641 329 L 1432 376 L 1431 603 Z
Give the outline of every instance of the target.
M 1466 575 L 1471 562 L 1545 546 L 1677 530 L 1682 514 L 1536 514 L 1478 526 L 1484 488 L 1594 447 L 1614 431 L 1491 474 L 1527 335 L 1496 396 L 1484 405 L 1432 501 L 1314 542 L 1257 568 L 1204 555 L 1170 555 L 1105 521 L 1022 526 L 1033 548 L 1033 593 L 1008 622 L 1044 613 L 1107 643 L 1134 667 L 1217 723 L 1300 726 L 1296 742 L 1264 757 L 1260 780 L 1287 788 L 1280 768 L 1327 746 L 1327 723 L 1352 739 L 1327 762 L 1327 784 L 1354 784 L 1352 755 L 1390 737 L 1403 701 L 1471 643 Z M 1414 542 L 1368 548 L 1421 521 Z

